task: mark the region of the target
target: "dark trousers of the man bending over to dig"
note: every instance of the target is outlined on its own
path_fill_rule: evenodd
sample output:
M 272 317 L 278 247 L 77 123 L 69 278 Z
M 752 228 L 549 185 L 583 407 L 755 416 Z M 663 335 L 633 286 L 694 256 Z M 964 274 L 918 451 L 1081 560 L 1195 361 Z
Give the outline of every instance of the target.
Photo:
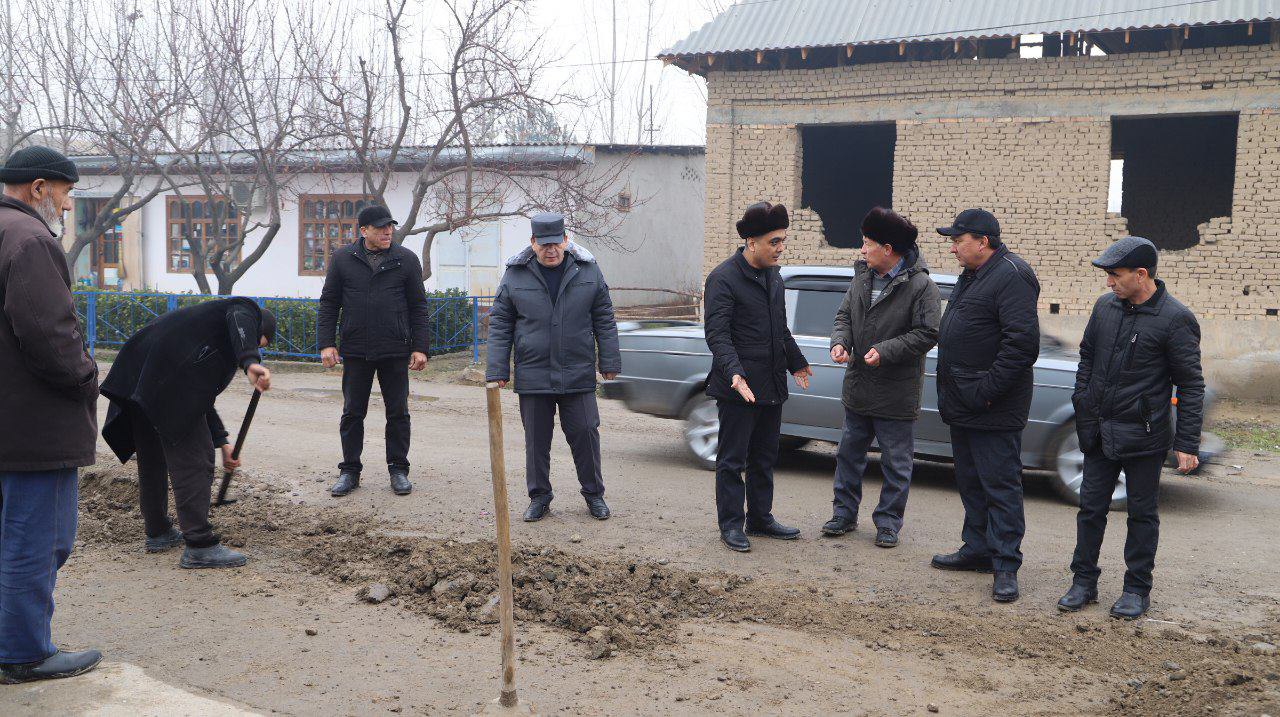
M 173 528 L 169 520 L 169 485 L 178 513 L 182 536 L 192 548 L 207 548 L 219 542 L 209 524 L 210 490 L 214 485 L 214 439 L 209 426 L 198 421 L 187 435 L 166 440 L 156 433 L 141 411 L 129 408 L 133 447 L 138 458 L 138 503 L 148 538 Z

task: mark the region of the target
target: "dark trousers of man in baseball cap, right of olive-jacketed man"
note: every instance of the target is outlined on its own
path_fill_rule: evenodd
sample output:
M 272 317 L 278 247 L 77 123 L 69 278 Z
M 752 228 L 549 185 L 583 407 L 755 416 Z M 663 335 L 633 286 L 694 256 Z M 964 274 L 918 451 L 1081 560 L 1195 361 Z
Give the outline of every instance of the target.
M 1023 565 L 1021 431 L 951 428 L 956 488 L 964 503 L 960 536 L 965 554 L 991 557 L 997 571 Z

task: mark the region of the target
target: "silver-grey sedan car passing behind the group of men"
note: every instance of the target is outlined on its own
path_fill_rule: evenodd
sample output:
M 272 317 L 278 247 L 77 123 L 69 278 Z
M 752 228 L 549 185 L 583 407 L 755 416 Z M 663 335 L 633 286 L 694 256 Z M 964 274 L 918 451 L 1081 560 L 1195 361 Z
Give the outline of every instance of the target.
M 786 283 L 787 321 L 814 375 L 809 391 L 792 389 L 782 412 L 782 448 L 799 449 L 812 440 L 840 442 L 844 426 L 841 387 L 845 366 L 831 361 L 831 328 L 836 310 L 852 279 L 851 268 L 788 266 Z M 943 306 L 956 277 L 933 274 Z M 712 355 L 703 326 L 691 321 L 620 323 L 623 374 L 605 382 L 605 398 L 626 402 L 632 411 L 685 421 L 685 444 L 692 458 L 708 470 L 716 467 L 719 420 L 716 401 L 705 394 Z M 1084 479 L 1084 455 L 1075 437 L 1071 391 L 1078 358 L 1057 339 L 1044 337 L 1036 361 L 1036 394 L 1030 421 L 1023 433 L 1023 465 L 1050 471 L 1053 487 L 1066 501 L 1079 504 Z M 937 351 L 925 364 L 920 419 L 915 424 L 915 453 L 919 458 L 952 458 L 951 433 L 938 416 L 934 385 Z M 1212 392 L 1206 392 L 1206 415 Z M 1212 434 L 1201 442 L 1201 462 L 1221 452 Z M 1112 508 L 1124 507 L 1128 492 L 1124 475 L 1116 485 Z

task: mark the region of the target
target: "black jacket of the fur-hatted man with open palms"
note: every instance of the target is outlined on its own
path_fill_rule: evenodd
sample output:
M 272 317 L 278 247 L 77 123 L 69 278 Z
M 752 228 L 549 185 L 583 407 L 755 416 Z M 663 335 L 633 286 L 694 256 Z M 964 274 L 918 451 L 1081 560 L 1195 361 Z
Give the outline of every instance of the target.
M 771 274 L 769 291 L 765 291 L 765 271 Z M 768 406 L 787 399 L 787 374 L 809 362 L 787 328 L 783 296 L 777 268 L 753 268 L 742 248 L 707 275 L 703 301 L 707 346 L 712 350 L 708 396 L 745 403 L 732 387 L 733 376 L 740 375 L 756 403 Z

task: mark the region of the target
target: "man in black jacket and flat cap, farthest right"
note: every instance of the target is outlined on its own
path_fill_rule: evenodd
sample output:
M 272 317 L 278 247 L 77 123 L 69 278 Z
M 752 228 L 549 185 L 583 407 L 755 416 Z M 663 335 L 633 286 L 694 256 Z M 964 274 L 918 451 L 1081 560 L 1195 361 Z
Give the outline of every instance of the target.
M 1071 588 L 1057 607 L 1075 612 L 1098 599 L 1098 552 L 1120 471 L 1129 490 L 1124 592 L 1114 617 L 1137 620 L 1151 606 L 1156 565 L 1160 470 L 1172 448 L 1178 470 L 1199 466 L 1204 376 L 1199 324 L 1156 278 L 1156 245 L 1125 237 L 1093 265 L 1107 274 L 1080 342 L 1075 371 L 1075 430 L 1084 452 Z M 1178 388 L 1178 419 L 1171 415 Z

